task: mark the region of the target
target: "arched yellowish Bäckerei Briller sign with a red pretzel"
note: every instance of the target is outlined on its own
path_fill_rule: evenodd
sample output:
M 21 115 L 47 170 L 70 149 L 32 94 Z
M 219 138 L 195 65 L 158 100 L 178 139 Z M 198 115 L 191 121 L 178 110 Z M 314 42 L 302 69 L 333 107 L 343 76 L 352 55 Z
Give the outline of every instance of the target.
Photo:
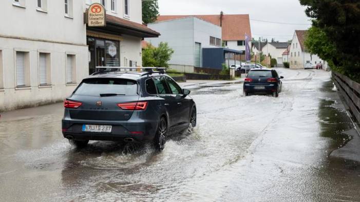
M 85 22 L 89 27 L 105 27 L 106 10 L 104 6 L 98 3 L 91 4 L 85 13 Z

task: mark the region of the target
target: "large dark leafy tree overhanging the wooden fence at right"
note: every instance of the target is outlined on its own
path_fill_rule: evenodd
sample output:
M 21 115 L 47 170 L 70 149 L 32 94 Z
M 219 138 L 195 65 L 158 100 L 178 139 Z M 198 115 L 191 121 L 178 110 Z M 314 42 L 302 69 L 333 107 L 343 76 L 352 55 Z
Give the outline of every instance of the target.
M 310 31 L 309 49 L 329 59 L 349 77 L 360 79 L 360 2 L 354 0 L 300 0 L 308 6 L 306 14 L 313 18 L 313 30 Z M 320 32 L 320 34 L 315 32 Z M 319 43 L 315 37 L 321 37 L 330 44 Z M 330 58 L 328 58 L 330 57 Z

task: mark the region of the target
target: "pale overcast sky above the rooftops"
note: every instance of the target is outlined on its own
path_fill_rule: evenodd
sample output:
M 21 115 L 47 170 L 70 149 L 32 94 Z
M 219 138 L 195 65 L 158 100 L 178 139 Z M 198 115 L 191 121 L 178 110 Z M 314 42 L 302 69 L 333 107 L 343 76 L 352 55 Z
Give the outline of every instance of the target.
M 284 25 L 250 21 L 252 36 L 292 39 L 294 30 L 310 27 L 311 22 L 298 0 L 159 0 L 160 15 L 250 14 L 250 19 L 306 25 Z

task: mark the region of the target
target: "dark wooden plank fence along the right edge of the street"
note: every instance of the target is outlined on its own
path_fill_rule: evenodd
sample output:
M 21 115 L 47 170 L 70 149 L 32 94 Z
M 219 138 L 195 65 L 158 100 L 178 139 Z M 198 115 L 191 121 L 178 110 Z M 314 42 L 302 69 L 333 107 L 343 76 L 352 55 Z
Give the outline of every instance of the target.
M 332 78 L 336 88 L 345 99 L 346 105 L 350 108 L 352 115 L 360 122 L 360 84 L 349 77 L 332 72 Z

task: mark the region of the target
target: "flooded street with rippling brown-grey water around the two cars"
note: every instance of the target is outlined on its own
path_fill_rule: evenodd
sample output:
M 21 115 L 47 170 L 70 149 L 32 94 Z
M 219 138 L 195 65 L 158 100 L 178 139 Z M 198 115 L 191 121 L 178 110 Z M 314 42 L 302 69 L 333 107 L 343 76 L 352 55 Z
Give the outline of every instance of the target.
M 278 98 L 244 97 L 236 83 L 187 86 L 198 125 L 161 153 L 72 148 L 62 103 L 2 113 L 0 201 L 359 201 L 360 170 L 328 157 L 353 128 L 330 73 L 277 71 Z

